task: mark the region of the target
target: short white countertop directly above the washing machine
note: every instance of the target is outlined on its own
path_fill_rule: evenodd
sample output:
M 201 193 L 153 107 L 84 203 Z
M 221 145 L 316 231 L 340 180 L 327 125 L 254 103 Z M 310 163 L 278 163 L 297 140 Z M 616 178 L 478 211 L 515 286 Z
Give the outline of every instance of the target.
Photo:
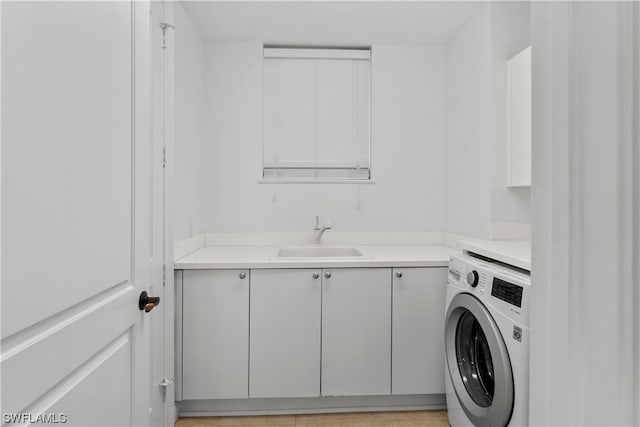
M 531 271 L 530 240 L 464 240 L 463 250 Z

